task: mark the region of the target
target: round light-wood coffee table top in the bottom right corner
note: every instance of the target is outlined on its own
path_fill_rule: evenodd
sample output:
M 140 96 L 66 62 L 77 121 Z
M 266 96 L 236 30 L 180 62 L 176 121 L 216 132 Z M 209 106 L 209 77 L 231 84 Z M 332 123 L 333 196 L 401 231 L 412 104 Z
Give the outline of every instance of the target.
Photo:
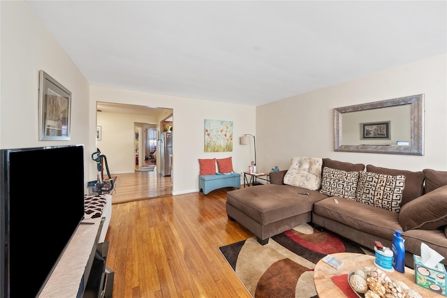
M 361 253 L 331 253 L 335 258 L 341 260 L 343 265 L 339 267 L 339 269 L 335 269 L 330 267 L 330 265 L 323 262 L 323 260 L 319 260 L 316 263 L 314 269 L 314 284 L 316 288 L 316 293 L 318 297 L 346 297 L 342 290 L 338 288 L 338 286 L 332 282 L 330 279 L 332 276 L 349 274 L 349 272 L 362 269 L 363 267 L 376 267 L 374 265 L 374 256 L 372 255 L 363 255 Z M 441 295 L 427 290 L 419 285 L 414 283 L 414 270 L 409 267 L 405 267 L 405 273 L 400 273 L 398 271 L 386 272 L 386 275 L 389 276 L 394 281 L 402 281 L 409 288 L 418 292 L 422 297 L 430 298 L 440 298 Z

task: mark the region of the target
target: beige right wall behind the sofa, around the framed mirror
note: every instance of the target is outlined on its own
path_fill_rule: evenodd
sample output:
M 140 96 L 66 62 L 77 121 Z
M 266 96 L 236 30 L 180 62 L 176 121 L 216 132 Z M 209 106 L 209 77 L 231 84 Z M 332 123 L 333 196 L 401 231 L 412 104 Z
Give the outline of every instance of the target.
M 317 156 L 404 170 L 447 170 L 446 54 L 257 107 L 258 167 Z M 425 155 L 336 152 L 333 109 L 425 94 Z

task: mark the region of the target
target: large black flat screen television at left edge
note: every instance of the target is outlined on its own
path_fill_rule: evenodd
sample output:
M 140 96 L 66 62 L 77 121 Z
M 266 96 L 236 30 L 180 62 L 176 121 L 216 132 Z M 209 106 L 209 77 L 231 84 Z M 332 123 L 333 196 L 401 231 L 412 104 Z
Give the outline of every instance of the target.
M 37 297 L 82 221 L 82 145 L 0 149 L 1 297 Z

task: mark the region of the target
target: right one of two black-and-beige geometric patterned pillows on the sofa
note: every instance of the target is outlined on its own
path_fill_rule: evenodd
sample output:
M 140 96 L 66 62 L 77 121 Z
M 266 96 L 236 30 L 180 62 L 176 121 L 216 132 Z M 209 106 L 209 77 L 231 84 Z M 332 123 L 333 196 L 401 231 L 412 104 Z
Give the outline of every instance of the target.
M 400 212 L 405 176 L 360 172 L 356 201 Z

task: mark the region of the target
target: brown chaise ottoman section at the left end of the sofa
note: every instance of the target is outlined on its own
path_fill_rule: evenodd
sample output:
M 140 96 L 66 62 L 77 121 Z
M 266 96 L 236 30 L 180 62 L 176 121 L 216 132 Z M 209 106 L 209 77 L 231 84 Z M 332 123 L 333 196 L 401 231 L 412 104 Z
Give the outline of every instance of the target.
M 264 245 L 269 237 L 311 221 L 314 203 L 324 198 L 328 196 L 319 191 L 265 184 L 228 191 L 226 212 L 228 218 L 253 232 Z

